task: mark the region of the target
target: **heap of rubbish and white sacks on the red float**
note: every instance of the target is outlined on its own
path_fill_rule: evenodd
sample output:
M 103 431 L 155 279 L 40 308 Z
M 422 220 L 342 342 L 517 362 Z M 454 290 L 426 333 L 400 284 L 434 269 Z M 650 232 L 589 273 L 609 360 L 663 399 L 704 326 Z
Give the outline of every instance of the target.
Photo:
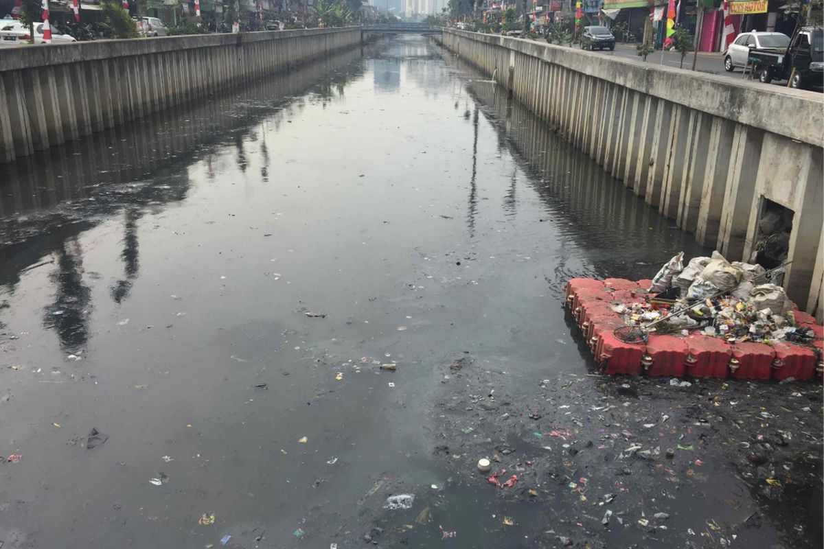
M 815 337 L 811 328 L 797 322 L 798 312 L 784 289 L 770 281 L 775 272 L 729 263 L 718 252 L 711 258 L 692 258 L 686 268 L 683 258 L 681 252 L 658 271 L 648 300 L 618 304 L 613 310 L 630 326 L 644 328 L 659 321 L 656 333 L 686 336 L 699 330 L 730 343 L 809 342 Z

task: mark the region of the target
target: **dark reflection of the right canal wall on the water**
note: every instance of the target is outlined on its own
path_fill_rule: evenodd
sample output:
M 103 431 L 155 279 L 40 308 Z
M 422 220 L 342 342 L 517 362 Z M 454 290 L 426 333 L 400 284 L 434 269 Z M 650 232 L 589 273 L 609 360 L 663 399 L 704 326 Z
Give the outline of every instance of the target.
M 499 144 L 512 151 L 526 183 L 545 204 L 547 219 L 559 221 L 559 242 L 576 242 L 588 250 L 588 276 L 647 277 L 649 265 L 666 261 L 683 249 L 688 257 L 706 254 L 695 239 L 678 230 L 658 210 L 649 207 L 620 180 L 558 137 L 526 107 L 508 98 L 505 90 L 485 81 L 466 63 L 447 57 L 475 80 L 467 87 L 481 112 L 499 131 Z M 475 123 L 473 121 L 473 123 Z M 503 207 L 509 215 L 516 211 L 517 177 L 513 173 Z M 475 189 L 470 189 L 470 201 Z M 470 219 L 470 231 L 473 226 Z M 556 276 L 580 276 L 559 263 Z

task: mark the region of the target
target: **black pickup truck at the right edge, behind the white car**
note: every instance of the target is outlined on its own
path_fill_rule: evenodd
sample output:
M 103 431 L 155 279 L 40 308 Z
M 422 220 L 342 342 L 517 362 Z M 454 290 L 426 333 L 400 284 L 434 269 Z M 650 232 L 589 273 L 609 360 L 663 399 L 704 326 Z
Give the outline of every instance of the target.
M 824 85 L 824 30 L 803 26 L 786 49 L 750 49 L 753 74 L 762 82 L 789 80 L 789 86 L 806 88 Z

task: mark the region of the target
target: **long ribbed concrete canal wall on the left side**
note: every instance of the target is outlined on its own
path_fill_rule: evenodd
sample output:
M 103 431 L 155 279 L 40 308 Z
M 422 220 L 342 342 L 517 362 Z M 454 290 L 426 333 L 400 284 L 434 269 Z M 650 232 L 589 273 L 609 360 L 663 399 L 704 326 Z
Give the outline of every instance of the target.
M 0 163 L 361 43 L 358 27 L 0 52 Z

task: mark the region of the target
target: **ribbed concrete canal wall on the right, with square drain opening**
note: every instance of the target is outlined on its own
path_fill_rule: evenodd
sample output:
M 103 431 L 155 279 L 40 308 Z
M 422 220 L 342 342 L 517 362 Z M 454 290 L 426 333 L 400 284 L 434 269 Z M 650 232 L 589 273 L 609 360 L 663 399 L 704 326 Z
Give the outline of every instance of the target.
M 822 95 L 499 35 L 441 40 L 731 261 L 756 254 L 765 212 L 791 215 L 784 286 L 822 319 Z

